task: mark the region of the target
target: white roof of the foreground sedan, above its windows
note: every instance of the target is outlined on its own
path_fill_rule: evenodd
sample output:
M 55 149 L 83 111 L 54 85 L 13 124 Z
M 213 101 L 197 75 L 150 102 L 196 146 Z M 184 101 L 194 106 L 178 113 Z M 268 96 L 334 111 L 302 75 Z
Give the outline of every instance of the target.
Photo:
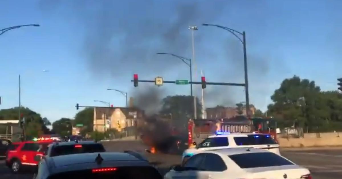
M 206 150 L 200 153 L 220 153 L 223 155 L 235 155 L 235 154 L 244 154 L 244 153 L 272 153 L 270 151 L 258 148 L 225 148 L 225 149 L 216 149 L 216 150 Z

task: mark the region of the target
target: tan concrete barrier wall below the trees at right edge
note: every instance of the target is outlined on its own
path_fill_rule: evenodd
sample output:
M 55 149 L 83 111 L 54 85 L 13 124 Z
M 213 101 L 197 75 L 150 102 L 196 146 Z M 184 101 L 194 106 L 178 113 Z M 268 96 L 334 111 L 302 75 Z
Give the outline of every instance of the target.
M 304 138 L 277 137 L 280 147 L 342 146 L 342 133 L 306 133 Z

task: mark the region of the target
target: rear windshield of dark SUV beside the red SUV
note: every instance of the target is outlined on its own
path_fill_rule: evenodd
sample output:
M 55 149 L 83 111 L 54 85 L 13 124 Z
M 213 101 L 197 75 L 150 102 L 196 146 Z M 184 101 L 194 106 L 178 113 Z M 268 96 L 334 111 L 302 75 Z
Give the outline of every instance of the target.
M 51 156 L 70 155 L 76 153 L 93 153 L 105 152 L 102 144 L 74 144 L 74 145 L 61 145 L 53 146 L 51 149 Z

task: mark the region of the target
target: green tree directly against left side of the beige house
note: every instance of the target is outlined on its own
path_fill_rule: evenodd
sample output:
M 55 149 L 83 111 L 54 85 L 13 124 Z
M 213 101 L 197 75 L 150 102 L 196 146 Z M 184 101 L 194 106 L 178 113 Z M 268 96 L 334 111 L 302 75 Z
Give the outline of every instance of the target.
M 79 111 L 75 116 L 75 124 L 83 124 L 81 134 L 93 131 L 94 108 L 85 108 Z

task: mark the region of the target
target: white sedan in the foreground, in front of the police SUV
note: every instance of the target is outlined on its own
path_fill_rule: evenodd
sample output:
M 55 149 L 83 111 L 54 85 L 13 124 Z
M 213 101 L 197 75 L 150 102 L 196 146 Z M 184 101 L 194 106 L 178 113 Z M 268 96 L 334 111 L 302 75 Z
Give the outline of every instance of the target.
M 183 165 L 176 165 L 165 174 L 173 178 L 274 178 L 312 179 L 310 171 L 288 159 L 257 148 L 230 148 L 201 151 Z

